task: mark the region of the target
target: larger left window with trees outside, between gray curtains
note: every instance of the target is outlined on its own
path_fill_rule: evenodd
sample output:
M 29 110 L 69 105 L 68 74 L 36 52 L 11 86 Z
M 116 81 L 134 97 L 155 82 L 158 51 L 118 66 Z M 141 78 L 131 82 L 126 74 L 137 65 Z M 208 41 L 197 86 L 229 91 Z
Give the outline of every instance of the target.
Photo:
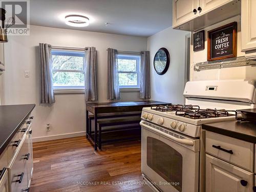
M 54 90 L 84 89 L 84 52 L 52 50 Z

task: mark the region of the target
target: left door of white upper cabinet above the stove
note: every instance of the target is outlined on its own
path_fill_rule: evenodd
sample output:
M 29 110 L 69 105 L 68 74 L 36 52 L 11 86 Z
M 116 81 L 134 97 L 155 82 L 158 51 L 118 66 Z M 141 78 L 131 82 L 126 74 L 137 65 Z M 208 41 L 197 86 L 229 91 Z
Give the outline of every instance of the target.
M 173 1 L 173 26 L 178 26 L 198 15 L 199 0 Z

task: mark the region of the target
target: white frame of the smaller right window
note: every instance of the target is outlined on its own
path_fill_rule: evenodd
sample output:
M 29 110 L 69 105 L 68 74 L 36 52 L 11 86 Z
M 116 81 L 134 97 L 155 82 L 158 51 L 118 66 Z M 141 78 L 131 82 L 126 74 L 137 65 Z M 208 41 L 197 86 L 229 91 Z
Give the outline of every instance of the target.
M 118 59 L 135 59 L 136 58 L 136 71 L 119 71 L 118 70 L 118 75 L 119 73 L 135 73 L 137 74 L 137 86 L 119 86 L 119 89 L 135 89 L 139 90 L 140 89 L 140 55 L 135 55 L 135 54 L 117 54 L 117 60 Z M 118 64 L 118 62 L 117 62 Z

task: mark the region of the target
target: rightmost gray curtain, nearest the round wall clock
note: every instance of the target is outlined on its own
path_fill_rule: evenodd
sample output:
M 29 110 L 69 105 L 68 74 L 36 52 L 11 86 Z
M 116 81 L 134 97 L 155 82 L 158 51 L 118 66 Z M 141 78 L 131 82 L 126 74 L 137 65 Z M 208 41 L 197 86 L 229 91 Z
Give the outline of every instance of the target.
M 140 98 L 150 99 L 150 52 L 141 52 L 141 65 L 140 65 Z

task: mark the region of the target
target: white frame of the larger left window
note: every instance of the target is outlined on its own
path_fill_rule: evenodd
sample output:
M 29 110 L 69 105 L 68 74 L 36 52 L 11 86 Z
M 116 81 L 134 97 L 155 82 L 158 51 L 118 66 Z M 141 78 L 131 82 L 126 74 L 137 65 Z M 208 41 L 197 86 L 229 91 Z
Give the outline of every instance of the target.
M 83 69 L 82 70 L 60 70 L 52 69 L 53 72 L 81 72 L 85 73 L 85 53 L 83 51 L 74 51 L 74 50 L 58 50 L 52 49 L 52 55 L 63 55 L 63 56 L 83 56 Z M 85 79 L 84 79 L 85 80 Z M 55 93 L 64 93 L 62 91 L 67 91 L 67 93 L 82 93 L 84 86 L 53 86 Z

